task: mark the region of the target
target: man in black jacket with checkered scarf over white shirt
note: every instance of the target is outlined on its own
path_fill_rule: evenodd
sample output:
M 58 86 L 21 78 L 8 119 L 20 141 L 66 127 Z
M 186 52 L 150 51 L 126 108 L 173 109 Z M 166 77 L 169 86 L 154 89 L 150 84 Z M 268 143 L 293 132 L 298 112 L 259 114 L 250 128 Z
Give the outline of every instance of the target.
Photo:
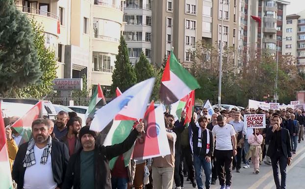
M 17 189 L 61 189 L 69 160 L 64 143 L 52 140 L 48 120 L 32 123 L 33 138 L 16 155 L 12 177 Z

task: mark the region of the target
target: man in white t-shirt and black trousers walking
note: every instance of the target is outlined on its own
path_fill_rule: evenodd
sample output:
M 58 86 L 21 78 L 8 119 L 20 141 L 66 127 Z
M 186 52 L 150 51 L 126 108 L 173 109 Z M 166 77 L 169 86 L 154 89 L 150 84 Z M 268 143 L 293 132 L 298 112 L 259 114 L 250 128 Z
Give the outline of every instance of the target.
M 237 154 L 234 127 L 225 121 L 225 116 L 219 115 L 217 117 L 217 125 L 212 130 L 212 134 L 216 138 L 214 155 L 217 160 L 220 189 L 230 189 L 232 160 Z

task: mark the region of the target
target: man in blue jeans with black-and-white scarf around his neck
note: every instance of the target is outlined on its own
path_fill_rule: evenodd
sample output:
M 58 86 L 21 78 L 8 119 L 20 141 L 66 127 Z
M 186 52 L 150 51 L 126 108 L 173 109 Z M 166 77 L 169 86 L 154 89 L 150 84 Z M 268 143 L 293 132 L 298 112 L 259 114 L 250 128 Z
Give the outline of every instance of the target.
M 194 121 L 190 123 L 193 131 L 194 166 L 198 189 L 203 189 L 202 168 L 205 175 L 205 189 L 210 189 L 212 181 L 211 156 L 214 143 L 212 132 L 206 129 L 207 123 L 205 116 L 198 119 L 199 127 Z

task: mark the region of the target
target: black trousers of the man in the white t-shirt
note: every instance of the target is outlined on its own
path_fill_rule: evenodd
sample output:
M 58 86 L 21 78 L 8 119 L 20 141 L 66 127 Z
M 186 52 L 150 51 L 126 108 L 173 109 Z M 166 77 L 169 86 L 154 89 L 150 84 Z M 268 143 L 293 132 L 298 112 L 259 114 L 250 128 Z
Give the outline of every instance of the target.
M 233 150 L 215 150 L 220 185 L 231 185 Z M 226 176 L 225 176 L 226 175 Z

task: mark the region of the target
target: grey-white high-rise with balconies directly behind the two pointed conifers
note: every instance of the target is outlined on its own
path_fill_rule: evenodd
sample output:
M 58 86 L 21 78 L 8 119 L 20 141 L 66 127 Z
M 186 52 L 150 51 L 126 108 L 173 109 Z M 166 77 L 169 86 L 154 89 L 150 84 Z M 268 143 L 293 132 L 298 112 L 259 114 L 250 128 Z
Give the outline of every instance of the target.
M 125 31 L 131 63 L 139 60 L 141 52 L 151 61 L 152 57 L 152 0 L 125 0 Z

